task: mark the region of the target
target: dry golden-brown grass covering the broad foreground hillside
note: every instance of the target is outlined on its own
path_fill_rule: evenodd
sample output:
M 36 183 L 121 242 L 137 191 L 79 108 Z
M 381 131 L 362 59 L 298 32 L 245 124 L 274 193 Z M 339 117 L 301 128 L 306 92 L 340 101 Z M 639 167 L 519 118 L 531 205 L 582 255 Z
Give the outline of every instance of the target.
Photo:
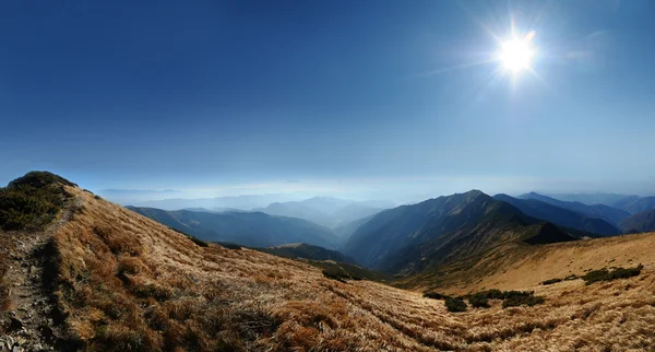
M 83 210 L 53 238 L 60 269 L 56 294 L 71 339 L 85 350 L 642 351 L 655 345 L 655 272 L 647 262 L 641 275 L 627 280 L 538 286 L 546 297 L 539 306 L 502 309 L 491 301 L 488 309 L 451 314 L 442 301 L 418 292 L 337 282 L 318 268 L 259 251 L 200 247 L 129 210 L 70 191 Z M 620 248 L 633 248 L 630 238 L 641 237 L 627 238 Z M 581 272 L 602 266 L 596 257 L 567 248 L 560 249 L 572 257 L 560 259 L 556 248 L 547 249 L 544 259 L 525 257 L 532 259 L 484 284 L 531 286 L 568 272 L 532 274 L 527 268 L 537 260 L 556 266 L 580 257 L 574 265 Z

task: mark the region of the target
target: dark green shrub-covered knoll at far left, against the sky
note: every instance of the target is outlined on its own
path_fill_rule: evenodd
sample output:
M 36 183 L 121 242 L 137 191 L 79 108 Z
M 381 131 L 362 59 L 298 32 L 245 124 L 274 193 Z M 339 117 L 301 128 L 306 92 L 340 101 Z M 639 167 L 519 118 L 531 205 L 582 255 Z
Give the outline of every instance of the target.
M 59 213 L 72 183 L 47 172 L 31 172 L 0 188 L 0 228 L 41 230 Z

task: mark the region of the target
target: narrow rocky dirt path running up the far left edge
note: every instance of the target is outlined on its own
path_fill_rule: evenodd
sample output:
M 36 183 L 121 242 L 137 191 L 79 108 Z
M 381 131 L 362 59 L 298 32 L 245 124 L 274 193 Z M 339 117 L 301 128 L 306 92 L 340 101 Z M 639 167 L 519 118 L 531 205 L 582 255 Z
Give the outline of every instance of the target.
M 71 200 L 59 220 L 46 231 L 5 233 L 14 244 L 2 254 L 9 261 L 4 282 L 10 285 L 11 306 L 0 336 L 0 352 L 61 350 L 61 336 L 52 296 L 44 288 L 45 247 L 61 225 L 72 219 L 76 200 Z M 0 330 L 2 331 L 2 330 Z

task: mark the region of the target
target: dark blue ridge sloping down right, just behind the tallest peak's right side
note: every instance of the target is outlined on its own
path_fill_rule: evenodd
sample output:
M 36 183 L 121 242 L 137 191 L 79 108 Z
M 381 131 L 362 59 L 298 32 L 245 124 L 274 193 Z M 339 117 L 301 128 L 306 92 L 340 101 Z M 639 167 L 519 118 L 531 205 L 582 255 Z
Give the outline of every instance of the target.
M 495 199 L 508 202 L 524 214 L 549 221 L 556 225 L 590 232 L 602 236 L 621 234 L 621 230 L 603 219 L 594 219 L 582 213 L 552 206 L 536 199 L 516 199 L 508 195 L 496 195 Z

